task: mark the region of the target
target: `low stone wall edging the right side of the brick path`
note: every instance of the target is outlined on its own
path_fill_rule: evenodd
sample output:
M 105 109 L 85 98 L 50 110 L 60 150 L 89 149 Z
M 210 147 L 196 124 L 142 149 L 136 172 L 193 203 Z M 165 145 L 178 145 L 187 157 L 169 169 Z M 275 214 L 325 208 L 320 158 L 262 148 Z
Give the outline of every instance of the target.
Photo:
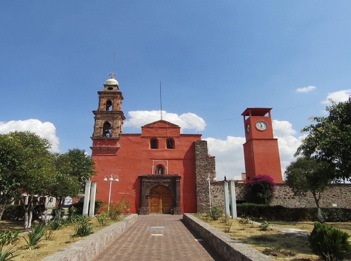
M 270 257 L 234 239 L 224 232 L 206 224 L 191 214 L 184 214 L 183 221 L 203 237 L 228 261 L 272 261 Z

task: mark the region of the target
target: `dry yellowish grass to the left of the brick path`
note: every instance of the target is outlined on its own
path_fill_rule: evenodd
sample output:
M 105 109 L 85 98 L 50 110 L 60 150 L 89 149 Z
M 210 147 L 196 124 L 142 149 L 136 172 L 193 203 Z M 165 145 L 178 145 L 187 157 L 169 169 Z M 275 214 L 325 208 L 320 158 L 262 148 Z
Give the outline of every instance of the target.
M 121 216 L 119 220 L 121 220 L 124 217 L 125 216 Z M 107 226 L 119 220 L 108 220 Z M 91 219 L 91 223 L 92 223 L 92 226 L 94 227 L 94 232 L 106 227 L 106 226 L 100 226 L 97 218 L 95 217 Z M 4 230 L 12 230 L 12 229 L 19 229 L 23 231 L 23 221 L 0 221 L 0 230 L 4 231 Z M 14 255 L 20 254 L 20 256 L 15 257 L 13 260 L 31 260 L 31 261 L 41 260 L 44 257 L 51 255 L 57 252 L 58 250 L 65 248 L 68 245 L 74 242 L 77 242 L 83 238 L 83 237 L 72 237 L 73 234 L 74 234 L 73 224 L 62 227 L 61 229 L 54 231 L 54 234 L 51 240 L 47 241 L 44 236 L 42 241 L 39 243 L 42 245 L 32 250 L 20 249 L 21 246 L 26 243 L 25 240 L 21 238 L 14 245 L 14 249 L 20 249 L 16 251 Z M 27 237 L 26 235 L 24 236 Z M 6 249 L 11 247 L 12 246 L 4 246 L 4 248 L 2 249 L 2 252 L 4 252 Z

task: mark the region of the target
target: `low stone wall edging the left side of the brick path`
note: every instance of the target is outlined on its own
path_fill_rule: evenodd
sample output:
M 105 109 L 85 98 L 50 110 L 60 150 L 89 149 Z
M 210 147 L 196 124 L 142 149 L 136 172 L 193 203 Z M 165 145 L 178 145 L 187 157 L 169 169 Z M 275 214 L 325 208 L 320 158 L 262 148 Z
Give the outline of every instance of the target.
M 115 240 L 129 226 L 137 221 L 138 215 L 131 214 L 98 232 L 55 252 L 41 261 L 89 261 L 108 244 Z

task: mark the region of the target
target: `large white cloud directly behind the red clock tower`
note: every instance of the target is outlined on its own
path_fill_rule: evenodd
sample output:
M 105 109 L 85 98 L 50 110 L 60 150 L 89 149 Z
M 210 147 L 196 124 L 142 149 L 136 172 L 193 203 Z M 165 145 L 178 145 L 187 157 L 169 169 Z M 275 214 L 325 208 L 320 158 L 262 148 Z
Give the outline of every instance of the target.
M 290 162 L 294 161 L 294 153 L 301 144 L 302 139 L 293 135 L 296 130 L 292 129 L 292 124 L 287 121 L 273 120 L 274 137 L 278 138 L 278 147 L 282 175 Z M 228 179 L 241 180 L 241 172 L 245 172 L 244 163 L 244 137 L 228 136 L 226 140 L 205 138 L 208 145 L 208 154 L 216 157 L 217 179 L 223 180 L 224 175 Z

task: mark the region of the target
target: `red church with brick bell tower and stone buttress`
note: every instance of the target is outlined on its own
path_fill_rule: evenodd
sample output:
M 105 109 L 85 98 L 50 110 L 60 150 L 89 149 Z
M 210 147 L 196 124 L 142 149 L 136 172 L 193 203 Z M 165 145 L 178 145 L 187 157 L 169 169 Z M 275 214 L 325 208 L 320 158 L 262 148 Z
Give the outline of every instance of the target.
M 96 199 L 117 202 L 125 195 L 130 213 L 140 215 L 204 209 L 208 180 L 216 177 L 207 142 L 200 134 L 182 134 L 178 125 L 165 120 L 141 126 L 141 133 L 123 133 L 123 96 L 115 74 L 109 76 L 93 111 Z

